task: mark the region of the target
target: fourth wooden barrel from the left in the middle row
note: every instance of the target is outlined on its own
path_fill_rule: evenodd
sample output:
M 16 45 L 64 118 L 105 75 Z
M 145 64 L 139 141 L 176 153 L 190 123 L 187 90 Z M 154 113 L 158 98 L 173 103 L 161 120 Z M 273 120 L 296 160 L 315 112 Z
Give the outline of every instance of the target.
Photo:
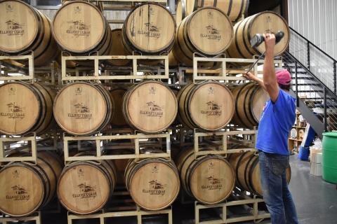
M 216 131 L 225 127 L 234 114 L 234 98 L 228 88 L 216 81 L 190 83 L 178 92 L 180 124 Z

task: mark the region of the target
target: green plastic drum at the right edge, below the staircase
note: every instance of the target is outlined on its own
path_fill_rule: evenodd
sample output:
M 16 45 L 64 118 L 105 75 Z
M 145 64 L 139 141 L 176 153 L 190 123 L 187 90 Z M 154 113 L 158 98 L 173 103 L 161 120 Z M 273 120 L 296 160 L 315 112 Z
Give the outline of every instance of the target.
M 337 132 L 324 132 L 322 144 L 323 180 L 337 183 Z

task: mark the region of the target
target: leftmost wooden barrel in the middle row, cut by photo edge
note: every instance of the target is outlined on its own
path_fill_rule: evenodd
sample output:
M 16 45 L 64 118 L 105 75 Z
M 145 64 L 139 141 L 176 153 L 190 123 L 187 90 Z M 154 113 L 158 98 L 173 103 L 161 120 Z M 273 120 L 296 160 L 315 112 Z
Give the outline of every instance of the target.
M 41 83 L 8 82 L 0 85 L 0 132 L 41 134 L 55 125 L 55 92 Z

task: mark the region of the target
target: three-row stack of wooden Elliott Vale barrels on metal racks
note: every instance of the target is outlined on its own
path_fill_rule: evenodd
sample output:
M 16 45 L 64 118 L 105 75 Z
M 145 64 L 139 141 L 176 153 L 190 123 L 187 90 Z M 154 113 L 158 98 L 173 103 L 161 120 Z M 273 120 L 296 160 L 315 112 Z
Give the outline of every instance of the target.
M 180 0 L 175 19 L 158 3 L 141 3 L 130 11 L 122 29 L 111 30 L 100 10 L 86 1 L 64 4 L 51 21 L 27 3 L 4 0 L 0 1 L 0 17 L 5 21 L 0 24 L 0 52 L 20 55 L 32 51 L 34 66 L 53 60 L 60 63 L 61 51 L 73 56 L 164 54 L 169 55 L 171 66 L 193 66 L 197 55 L 242 59 L 261 55 L 264 45 L 251 48 L 251 38 L 258 33 L 282 30 L 285 36 L 276 45 L 275 55 L 282 54 L 290 38 L 285 20 L 269 11 L 240 20 L 248 6 L 248 0 Z M 93 66 L 90 59 L 67 66 L 75 63 Z M 140 61 L 145 65 L 159 63 Z M 129 66 L 131 61 L 112 58 L 107 64 Z M 246 65 L 230 63 L 235 68 Z M 98 83 L 81 81 L 65 85 L 57 94 L 41 83 L 13 81 L 0 86 L 0 99 L 1 133 L 43 134 L 58 125 L 69 134 L 86 136 L 101 132 L 108 125 L 128 126 L 145 134 L 163 132 L 177 123 L 205 132 L 221 130 L 230 122 L 253 129 L 268 96 L 256 83 L 229 88 L 213 80 L 189 83 L 176 93 L 158 80 L 110 90 Z M 145 149 L 141 153 L 156 152 Z M 223 202 L 235 185 L 262 195 L 258 159 L 253 153 L 235 153 L 227 160 L 206 155 L 197 160 L 194 148 L 187 147 L 177 154 L 174 160 L 132 159 L 120 164 L 112 160 L 79 160 L 63 169 L 55 154 L 41 152 L 36 166 L 13 162 L 1 169 L 0 186 L 5 187 L 0 194 L 0 211 L 10 216 L 27 216 L 57 193 L 69 211 L 91 214 L 105 206 L 118 183 L 125 184 L 139 207 L 152 211 L 169 207 L 178 196 L 180 183 L 188 195 L 204 204 Z M 86 155 L 95 153 L 79 153 L 75 157 Z

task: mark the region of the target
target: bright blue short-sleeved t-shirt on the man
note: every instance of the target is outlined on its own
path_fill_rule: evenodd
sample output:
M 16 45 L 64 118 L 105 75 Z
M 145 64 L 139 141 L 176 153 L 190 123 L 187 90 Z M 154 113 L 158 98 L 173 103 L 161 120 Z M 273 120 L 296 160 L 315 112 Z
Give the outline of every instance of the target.
M 256 148 L 265 153 L 289 155 L 289 131 L 296 119 L 295 98 L 279 89 L 277 102 L 265 103 L 258 125 Z

